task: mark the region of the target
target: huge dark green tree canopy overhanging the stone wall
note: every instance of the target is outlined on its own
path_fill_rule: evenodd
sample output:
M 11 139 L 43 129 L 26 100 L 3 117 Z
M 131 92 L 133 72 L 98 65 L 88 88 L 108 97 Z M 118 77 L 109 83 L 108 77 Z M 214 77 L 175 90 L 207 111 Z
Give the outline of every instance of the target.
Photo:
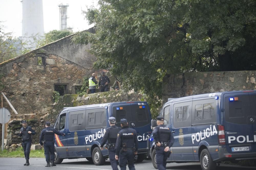
M 84 14 L 96 33 L 73 41 L 125 89 L 161 97 L 166 73 L 255 69 L 254 0 L 99 0 Z

